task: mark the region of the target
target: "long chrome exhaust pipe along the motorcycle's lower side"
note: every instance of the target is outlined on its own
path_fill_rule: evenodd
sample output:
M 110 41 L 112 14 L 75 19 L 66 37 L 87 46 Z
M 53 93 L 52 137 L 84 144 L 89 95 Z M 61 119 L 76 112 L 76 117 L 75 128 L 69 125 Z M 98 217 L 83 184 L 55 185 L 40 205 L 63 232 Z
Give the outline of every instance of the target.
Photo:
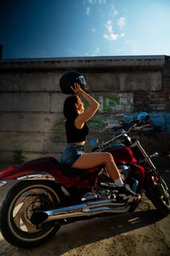
M 120 214 L 127 212 L 130 207 L 128 203 L 117 203 L 115 199 L 89 201 L 76 206 L 36 211 L 31 216 L 31 222 L 34 225 L 38 225 L 42 222 L 52 222 L 54 220 L 72 217 L 85 217 L 104 213 Z

